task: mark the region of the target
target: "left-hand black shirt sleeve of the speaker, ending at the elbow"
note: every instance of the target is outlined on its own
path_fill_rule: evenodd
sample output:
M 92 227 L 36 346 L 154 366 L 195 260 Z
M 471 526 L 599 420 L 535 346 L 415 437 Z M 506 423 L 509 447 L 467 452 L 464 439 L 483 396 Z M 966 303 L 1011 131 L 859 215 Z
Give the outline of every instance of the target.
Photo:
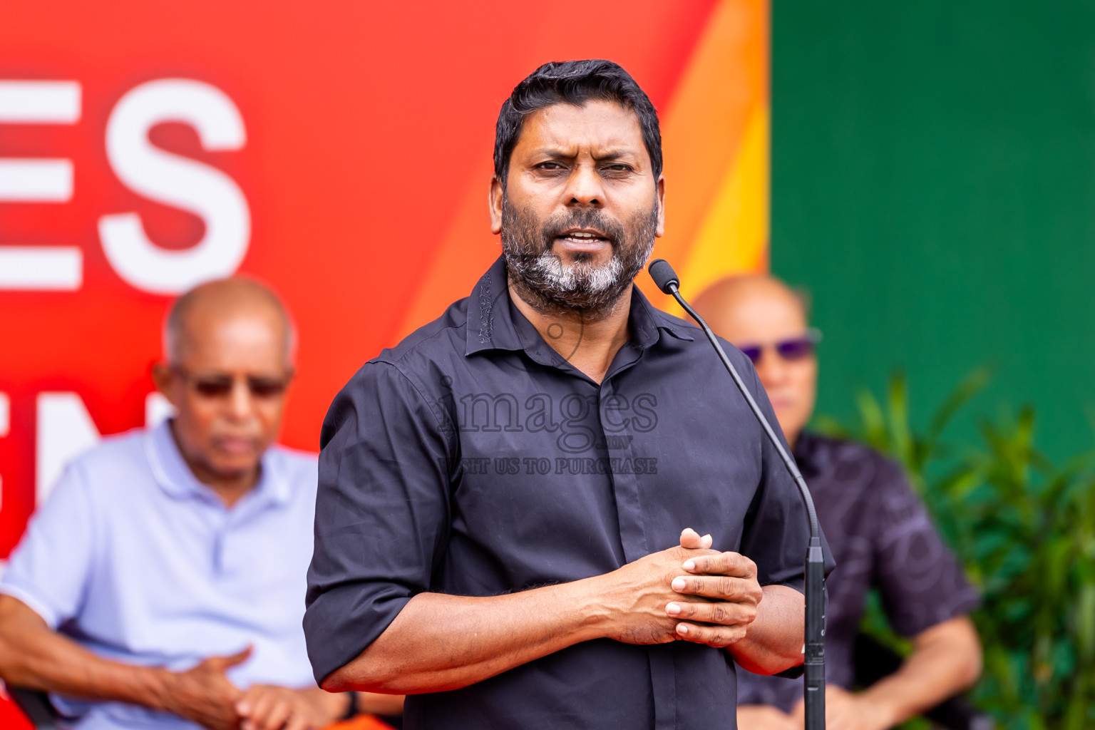
M 316 682 L 430 587 L 449 529 L 445 414 L 396 367 L 367 363 L 321 434 L 304 636 Z

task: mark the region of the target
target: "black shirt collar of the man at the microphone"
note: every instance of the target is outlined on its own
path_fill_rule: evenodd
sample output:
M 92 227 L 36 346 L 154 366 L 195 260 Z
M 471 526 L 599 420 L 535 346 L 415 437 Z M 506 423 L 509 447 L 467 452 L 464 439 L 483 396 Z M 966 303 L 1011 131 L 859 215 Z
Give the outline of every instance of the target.
M 647 349 L 661 332 L 678 339 L 693 338 L 665 312 L 656 310 L 638 287 L 631 289 L 629 326 L 635 344 Z M 483 350 L 525 350 L 533 359 L 554 352 L 509 297 L 506 260 L 499 256 L 480 277 L 468 300 L 468 343 L 464 355 Z

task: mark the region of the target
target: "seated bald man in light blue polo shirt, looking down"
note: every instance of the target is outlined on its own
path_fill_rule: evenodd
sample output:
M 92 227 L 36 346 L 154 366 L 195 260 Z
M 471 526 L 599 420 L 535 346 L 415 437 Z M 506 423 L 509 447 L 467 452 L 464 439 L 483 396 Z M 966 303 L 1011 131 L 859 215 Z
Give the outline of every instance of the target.
M 355 705 L 304 649 L 316 460 L 273 445 L 292 378 L 278 299 L 247 279 L 171 309 L 157 387 L 176 415 L 76 459 L 0 581 L 0 676 L 69 727 L 303 730 Z

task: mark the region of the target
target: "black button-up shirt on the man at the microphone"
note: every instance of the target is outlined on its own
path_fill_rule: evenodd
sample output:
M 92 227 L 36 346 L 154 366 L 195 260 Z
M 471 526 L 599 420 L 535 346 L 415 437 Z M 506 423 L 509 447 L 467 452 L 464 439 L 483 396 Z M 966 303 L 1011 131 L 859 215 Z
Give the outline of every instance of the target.
M 416 593 L 496 595 L 612 571 L 711 533 L 802 590 L 798 493 L 700 331 L 634 289 L 598 384 L 514 306 L 502 259 L 367 362 L 323 424 L 304 631 L 318 681 Z M 549 335 L 551 333 L 549 332 Z M 725 345 L 769 420 L 749 360 Z M 575 645 L 407 698 L 407 728 L 734 728 L 735 665 L 688 641 Z

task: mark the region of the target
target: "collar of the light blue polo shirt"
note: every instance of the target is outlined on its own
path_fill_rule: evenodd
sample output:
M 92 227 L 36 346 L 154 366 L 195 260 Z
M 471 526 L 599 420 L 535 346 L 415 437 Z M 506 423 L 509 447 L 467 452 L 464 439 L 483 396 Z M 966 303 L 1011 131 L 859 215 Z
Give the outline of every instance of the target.
M 222 503 L 208 485 L 198 482 L 186 464 L 171 433 L 171 419 L 148 431 L 145 438 L 145 451 L 155 483 L 168 495 L 176 499 L 215 499 L 217 503 Z M 273 505 L 288 503 L 291 497 L 290 486 L 285 475 L 274 465 L 273 449 L 267 449 L 263 454 L 262 476 L 249 496 Z

